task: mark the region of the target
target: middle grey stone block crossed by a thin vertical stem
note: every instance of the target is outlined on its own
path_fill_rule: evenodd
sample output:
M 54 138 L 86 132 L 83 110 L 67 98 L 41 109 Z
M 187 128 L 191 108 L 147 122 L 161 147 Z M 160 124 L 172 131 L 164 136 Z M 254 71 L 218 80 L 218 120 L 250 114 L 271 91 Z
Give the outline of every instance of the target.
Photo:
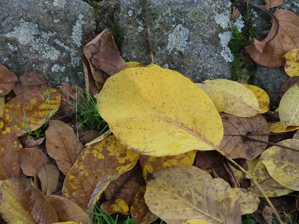
M 151 62 L 144 0 L 120 0 L 126 61 Z M 229 0 L 149 0 L 154 62 L 195 81 L 231 79 Z M 227 60 L 227 61 L 226 61 Z

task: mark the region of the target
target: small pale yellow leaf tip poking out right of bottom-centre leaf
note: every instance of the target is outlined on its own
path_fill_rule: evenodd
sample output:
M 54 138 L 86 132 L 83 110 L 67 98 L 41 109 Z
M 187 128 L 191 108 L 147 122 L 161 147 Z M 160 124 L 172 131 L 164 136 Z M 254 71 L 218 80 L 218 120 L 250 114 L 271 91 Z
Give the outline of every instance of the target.
M 247 192 L 244 188 L 233 188 L 232 191 L 234 191 L 239 198 L 242 216 L 257 211 L 260 199 L 256 194 Z

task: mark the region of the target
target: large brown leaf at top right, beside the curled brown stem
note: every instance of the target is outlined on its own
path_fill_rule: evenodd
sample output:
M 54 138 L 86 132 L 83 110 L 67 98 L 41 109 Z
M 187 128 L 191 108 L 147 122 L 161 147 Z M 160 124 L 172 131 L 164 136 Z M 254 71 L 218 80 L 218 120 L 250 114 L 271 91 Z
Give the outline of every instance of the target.
M 267 36 L 266 41 L 251 40 L 251 45 L 245 47 L 246 52 L 259 65 L 265 67 L 284 66 L 283 56 L 290 50 L 299 48 L 299 17 L 288 10 L 277 10 L 274 13 L 279 22 L 279 30 L 273 40 L 266 43 L 272 36 Z M 273 23 L 270 35 L 273 35 L 276 22 Z M 253 43 L 254 42 L 254 43 Z

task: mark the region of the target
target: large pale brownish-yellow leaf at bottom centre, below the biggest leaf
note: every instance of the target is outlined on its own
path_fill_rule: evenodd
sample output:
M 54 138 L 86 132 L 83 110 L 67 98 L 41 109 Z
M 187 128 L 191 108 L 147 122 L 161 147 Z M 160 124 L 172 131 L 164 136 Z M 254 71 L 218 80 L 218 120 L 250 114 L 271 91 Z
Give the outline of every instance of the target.
M 168 224 L 190 219 L 241 223 L 238 197 L 229 184 L 195 166 L 172 166 L 153 173 L 145 200 L 149 210 Z

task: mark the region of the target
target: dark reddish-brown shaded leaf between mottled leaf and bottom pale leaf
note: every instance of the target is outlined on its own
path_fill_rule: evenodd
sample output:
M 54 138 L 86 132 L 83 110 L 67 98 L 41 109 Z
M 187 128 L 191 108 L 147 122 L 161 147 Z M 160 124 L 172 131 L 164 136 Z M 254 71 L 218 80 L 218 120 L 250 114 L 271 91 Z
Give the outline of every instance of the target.
M 104 191 L 106 200 L 122 199 L 128 206 L 132 205 L 133 199 L 139 188 L 145 184 L 140 168 L 134 169 L 122 174 L 119 178 L 111 181 Z M 108 211 L 107 211 L 108 212 Z

